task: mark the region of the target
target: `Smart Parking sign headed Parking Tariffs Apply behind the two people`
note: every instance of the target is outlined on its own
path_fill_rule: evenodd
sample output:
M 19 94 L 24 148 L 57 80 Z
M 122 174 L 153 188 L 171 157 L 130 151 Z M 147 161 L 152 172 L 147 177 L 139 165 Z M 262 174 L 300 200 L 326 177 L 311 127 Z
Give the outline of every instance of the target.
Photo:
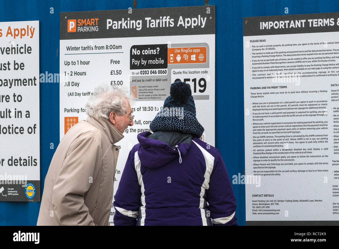
M 134 97 L 134 125 L 117 144 L 116 192 L 137 134 L 150 131 L 176 80 L 191 85 L 201 139 L 214 145 L 215 6 L 60 13 L 60 76 L 60 139 L 86 119 L 97 85 L 124 87 Z M 112 206 L 111 224 L 113 215 Z

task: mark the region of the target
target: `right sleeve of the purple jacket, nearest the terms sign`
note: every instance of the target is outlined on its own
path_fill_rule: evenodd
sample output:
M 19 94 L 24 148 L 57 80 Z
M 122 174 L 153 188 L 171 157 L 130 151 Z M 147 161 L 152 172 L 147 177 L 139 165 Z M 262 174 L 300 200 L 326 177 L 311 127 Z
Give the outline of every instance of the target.
M 238 225 L 235 215 L 236 200 L 226 166 L 219 151 L 214 161 L 207 202 L 213 226 Z

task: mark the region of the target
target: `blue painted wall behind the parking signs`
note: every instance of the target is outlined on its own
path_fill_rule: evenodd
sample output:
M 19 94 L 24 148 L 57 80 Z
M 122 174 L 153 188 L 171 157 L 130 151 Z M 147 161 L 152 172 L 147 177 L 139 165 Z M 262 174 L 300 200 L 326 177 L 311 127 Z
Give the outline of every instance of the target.
M 204 5 L 203 0 L 138 0 L 138 8 Z M 339 2 L 296 0 L 215 0 L 216 5 L 216 147 L 230 178 L 243 174 L 244 95 L 242 18 L 251 16 L 339 12 Z M 50 14 L 50 8 L 54 14 Z M 40 73 L 59 73 L 59 13 L 133 8 L 133 1 L 0 0 L 0 22 L 40 21 Z M 44 179 L 59 144 L 59 84 L 40 83 L 40 178 Z M 2 142 L 2 141 L 1 141 Z M 54 149 L 49 144 L 54 143 Z M 245 186 L 233 185 L 239 225 L 245 225 Z M 0 202 L 0 225 L 36 225 L 40 202 Z

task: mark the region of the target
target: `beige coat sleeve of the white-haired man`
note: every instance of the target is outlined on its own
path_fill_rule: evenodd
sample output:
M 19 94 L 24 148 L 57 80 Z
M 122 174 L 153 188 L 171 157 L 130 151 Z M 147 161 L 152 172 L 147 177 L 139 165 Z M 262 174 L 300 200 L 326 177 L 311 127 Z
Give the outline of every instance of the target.
M 102 163 L 102 149 L 95 134 L 77 138 L 67 151 L 52 190 L 55 215 L 62 225 L 95 225 L 84 204 L 84 194 L 91 187 L 96 163 Z

